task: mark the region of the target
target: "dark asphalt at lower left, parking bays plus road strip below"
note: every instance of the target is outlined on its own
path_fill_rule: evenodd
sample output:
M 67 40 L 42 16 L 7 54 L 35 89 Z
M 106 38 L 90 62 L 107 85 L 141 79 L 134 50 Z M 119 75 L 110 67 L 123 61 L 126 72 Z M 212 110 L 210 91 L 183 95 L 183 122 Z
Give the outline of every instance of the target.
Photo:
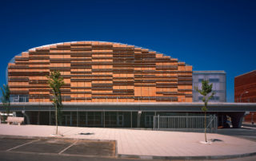
M 108 160 L 116 157 L 114 141 L 1 137 L 0 145 L 1 160 L 63 160 L 63 156 L 76 160 L 84 157 Z

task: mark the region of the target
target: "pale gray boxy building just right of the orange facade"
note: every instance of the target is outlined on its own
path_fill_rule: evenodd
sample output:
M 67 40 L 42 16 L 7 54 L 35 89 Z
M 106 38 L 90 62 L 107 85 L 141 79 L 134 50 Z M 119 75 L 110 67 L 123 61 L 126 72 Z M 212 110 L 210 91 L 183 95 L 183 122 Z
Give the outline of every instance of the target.
M 210 102 L 226 102 L 226 72 L 225 71 L 193 71 L 193 102 L 202 101 L 202 95 L 194 88 L 202 87 L 202 80 L 208 80 L 213 84 L 215 92 Z

